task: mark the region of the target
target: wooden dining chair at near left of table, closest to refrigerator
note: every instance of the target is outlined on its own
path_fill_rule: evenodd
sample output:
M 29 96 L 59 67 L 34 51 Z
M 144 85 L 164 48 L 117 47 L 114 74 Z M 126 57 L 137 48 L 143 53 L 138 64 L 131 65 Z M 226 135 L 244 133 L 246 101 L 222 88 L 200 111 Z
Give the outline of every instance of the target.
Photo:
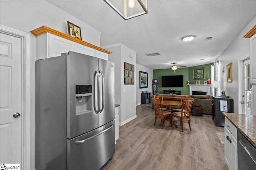
M 156 126 L 156 119 L 161 119 L 161 129 L 164 127 L 164 121 L 170 121 L 170 115 L 171 113 L 169 111 L 163 110 L 162 101 L 161 99 L 152 98 L 153 104 L 155 107 L 155 123 L 154 126 Z

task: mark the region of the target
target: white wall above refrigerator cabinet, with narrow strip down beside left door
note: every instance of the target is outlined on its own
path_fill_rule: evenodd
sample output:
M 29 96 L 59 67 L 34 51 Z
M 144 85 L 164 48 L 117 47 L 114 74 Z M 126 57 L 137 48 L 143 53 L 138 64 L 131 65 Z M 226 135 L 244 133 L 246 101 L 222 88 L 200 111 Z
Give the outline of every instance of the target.
M 67 33 L 66 23 L 70 21 L 81 27 L 82 40 L 100 46 L 100 31 L 60 10 L 45 0 L 9 0 L 0 2 L 0 24 L 30 33 L 45 25 Z M 35 168 L 35 61 L 36 37 L 31 34 L 31 169 Z

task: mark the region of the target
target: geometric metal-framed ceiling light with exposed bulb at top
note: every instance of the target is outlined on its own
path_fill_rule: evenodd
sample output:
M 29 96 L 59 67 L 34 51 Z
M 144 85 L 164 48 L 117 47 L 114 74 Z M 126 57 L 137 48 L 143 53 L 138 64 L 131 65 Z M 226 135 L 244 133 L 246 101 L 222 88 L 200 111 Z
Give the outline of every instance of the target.
M 104 0 L 124 20 L 148 13 L 148 0 Z

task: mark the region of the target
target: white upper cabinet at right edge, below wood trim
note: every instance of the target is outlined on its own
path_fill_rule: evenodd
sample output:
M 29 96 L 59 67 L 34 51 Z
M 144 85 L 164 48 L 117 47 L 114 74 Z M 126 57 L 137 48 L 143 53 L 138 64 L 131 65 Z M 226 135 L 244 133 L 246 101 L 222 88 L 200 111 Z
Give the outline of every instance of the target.
M 251 83 L 256 84 L 256 34 L 250 38 Z

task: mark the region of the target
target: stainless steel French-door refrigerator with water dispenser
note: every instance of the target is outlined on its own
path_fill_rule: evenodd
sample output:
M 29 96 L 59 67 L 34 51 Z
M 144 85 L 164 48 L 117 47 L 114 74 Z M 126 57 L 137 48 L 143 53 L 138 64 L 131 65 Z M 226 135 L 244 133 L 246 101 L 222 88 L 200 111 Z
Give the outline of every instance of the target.
M 72 51 L 36 61 L 36 170 L 98 170 L 114 143 L 114 63 Z

